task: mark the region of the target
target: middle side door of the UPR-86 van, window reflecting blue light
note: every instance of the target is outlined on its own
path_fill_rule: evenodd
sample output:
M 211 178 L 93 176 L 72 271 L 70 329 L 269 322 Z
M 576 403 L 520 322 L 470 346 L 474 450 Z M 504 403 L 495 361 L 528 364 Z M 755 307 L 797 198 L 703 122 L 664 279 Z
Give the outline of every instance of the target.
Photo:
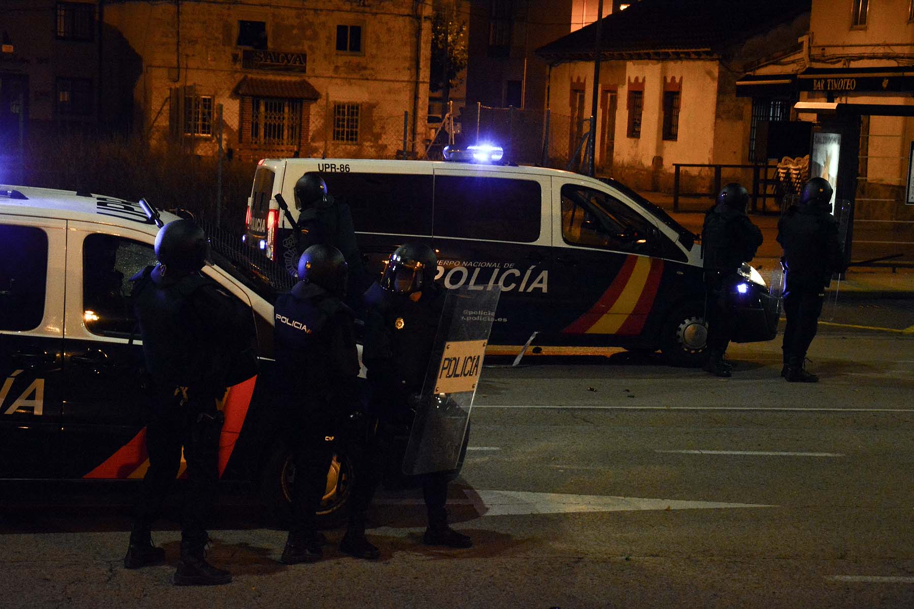
M 524 344 L 547 331 L 550 282 L 550 178 L 498 167 L 436 167 L 433 243 L 445 288 L 501 289 L 496 344 Z

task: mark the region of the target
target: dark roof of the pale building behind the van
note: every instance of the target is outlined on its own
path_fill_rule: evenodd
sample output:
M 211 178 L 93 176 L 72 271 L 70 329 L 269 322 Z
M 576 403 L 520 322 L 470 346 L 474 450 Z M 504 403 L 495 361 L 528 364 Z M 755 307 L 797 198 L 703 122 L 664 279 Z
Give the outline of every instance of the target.
M 641 0 L 603 18 L 600 57 L 657 52 L 715 54 L 808 12 L 812 0 Z M 547 60 L 593 58 L 596 23 L 537 48 Z

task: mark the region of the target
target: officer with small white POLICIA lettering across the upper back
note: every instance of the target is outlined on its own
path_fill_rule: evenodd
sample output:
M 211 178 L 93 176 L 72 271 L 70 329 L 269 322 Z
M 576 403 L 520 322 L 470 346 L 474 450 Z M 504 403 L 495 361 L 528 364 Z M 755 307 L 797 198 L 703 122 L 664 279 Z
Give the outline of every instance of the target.
M 358 410 L 355 316 L 343 302 L 347 265 L 335 247 L 308 247 L 299 259 L 299 281 L 276 299 L 278 392 L 294 442 L 292 527 L 282 562 L 314 562 L 323 556 L 316 513 L 344 419 Z M 377 558 L 365 538 L 362 511 L 354 512 L 340 549 Z

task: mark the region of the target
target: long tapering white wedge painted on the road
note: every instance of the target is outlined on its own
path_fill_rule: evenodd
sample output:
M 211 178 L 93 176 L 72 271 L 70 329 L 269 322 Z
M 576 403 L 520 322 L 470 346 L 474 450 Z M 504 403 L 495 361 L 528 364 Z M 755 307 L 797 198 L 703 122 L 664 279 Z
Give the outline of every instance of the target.
M 480 516 L 527 516 L 530 514 L 571 514 L 599 511 L 645 511 L 670 509 L 776 508 L 756 503 L 645 499 L 604 495 L 566 495 L 526 490 L 468 490 L 467 499 L 448 500 L 451 506 L 473 506 Z M 380 505 L 424 505 L 422 499 L 379 499 Z

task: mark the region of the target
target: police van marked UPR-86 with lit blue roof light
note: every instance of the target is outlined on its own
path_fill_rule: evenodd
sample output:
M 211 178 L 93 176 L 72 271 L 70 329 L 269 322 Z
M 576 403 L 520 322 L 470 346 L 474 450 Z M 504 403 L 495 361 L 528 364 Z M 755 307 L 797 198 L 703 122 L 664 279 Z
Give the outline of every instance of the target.
M 438 252 L 446 288 L 500 289 L 490 344 L 661 350 L 694 365 L 705 350 L 700 244 L 664 210 L 611 179 L 498 163 L 499 149 L 450 161 L 264 159 L 254 174 L 245 241 L 294 274 L 292 225 L 276 195 L 318 172 L 349 205 L 367 268 L 404 242 Z M 470 161 L 470 162 L 468 162 Z M 297 212 L 290 210 L 292 218 Z M 749 265 L 733 285 L 736 342 L 777 333 L 777 299 Z

